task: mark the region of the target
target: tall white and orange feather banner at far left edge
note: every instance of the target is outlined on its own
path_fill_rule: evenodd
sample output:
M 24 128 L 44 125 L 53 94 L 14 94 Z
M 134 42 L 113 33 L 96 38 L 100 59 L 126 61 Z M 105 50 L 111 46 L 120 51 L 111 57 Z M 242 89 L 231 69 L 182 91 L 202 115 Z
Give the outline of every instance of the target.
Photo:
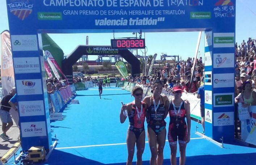
M 1 33 L 1 82 L 3 95 L 11 92 L 15 86 L 12 61 L 12 48 L 9 31 Z M 1 96 L 0 96 L 1 97 Z

